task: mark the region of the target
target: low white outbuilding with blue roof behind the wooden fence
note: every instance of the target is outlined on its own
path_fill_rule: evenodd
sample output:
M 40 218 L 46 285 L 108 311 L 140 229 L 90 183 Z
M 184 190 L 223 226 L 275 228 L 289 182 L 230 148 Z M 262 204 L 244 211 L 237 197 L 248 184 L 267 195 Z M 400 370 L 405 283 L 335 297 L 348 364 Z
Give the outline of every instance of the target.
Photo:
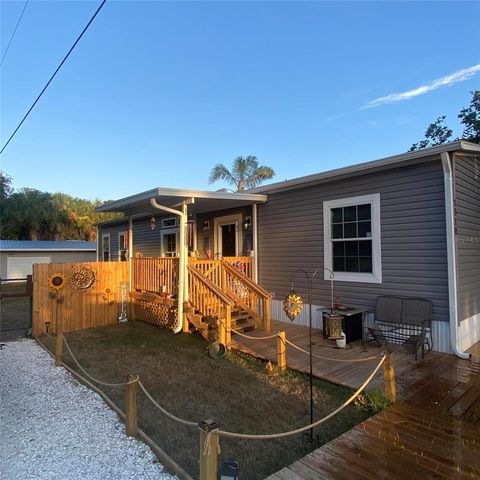
M 34 263 L 94 262 L 95 242 L 77 240 L 0 240 L 0 276 L 25 278 Z

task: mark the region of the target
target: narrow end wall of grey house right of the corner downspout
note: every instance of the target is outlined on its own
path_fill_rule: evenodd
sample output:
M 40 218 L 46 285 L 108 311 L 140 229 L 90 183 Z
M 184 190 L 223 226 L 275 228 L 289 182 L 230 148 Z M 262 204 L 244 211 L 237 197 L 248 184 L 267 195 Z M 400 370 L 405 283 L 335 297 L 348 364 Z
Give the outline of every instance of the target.
M 455 175 L 455 244 L 460 342 L 480 340 L 480 159 L 457 156 Z

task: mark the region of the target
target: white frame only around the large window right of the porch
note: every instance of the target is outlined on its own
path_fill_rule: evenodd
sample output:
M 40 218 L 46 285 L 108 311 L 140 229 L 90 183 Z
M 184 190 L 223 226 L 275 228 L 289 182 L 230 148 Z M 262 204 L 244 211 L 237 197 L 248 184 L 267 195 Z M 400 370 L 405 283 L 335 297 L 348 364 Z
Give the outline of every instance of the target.
M 352 207 L 369 203 L 372 212 L 372 273 L 333 272 L 335 281 L 382 283 L 382 240 L 380 235 L 380 194 L 360 195 L 323 202 L 323 257 L 324 266 L 333 271 L 332 258 L 332 209 Z M 324 279 L 330 280 L 330 273 L 324 271 Z

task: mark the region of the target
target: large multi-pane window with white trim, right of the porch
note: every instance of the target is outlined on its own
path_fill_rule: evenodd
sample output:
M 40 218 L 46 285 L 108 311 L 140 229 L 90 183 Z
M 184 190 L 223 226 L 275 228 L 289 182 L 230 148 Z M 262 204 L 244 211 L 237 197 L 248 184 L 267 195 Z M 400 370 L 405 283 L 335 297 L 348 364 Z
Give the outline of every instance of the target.
M 325 267 L 335 280 L 381 283 L 380 194 L 323 202 L 323 220 Z

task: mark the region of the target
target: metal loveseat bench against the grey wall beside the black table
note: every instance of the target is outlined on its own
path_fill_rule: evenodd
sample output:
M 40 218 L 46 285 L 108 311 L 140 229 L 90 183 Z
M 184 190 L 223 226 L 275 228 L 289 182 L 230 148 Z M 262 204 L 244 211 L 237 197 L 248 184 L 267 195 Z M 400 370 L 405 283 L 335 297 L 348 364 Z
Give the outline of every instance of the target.
M 381 296 L 377 298 L 373 324 L 366 325 L 367 341 L 380 347 L 387 343 L 411 347 L 418 352 L 432 350 L 432 302 L 424 298 Z

